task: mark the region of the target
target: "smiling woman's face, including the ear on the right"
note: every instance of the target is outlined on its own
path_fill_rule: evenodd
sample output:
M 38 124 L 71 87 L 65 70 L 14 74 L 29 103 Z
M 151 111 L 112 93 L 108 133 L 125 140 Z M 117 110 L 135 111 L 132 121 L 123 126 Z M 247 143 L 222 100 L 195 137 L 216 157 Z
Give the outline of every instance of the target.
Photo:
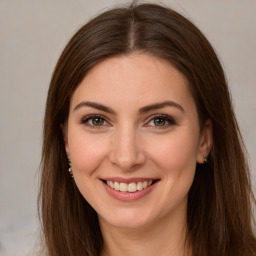
M 100 223 L 139 228 L 186 216 L 211 144 L 188 86 L 170 63 L 131 54 L 97 64 L 75 90 L 66 152 Z

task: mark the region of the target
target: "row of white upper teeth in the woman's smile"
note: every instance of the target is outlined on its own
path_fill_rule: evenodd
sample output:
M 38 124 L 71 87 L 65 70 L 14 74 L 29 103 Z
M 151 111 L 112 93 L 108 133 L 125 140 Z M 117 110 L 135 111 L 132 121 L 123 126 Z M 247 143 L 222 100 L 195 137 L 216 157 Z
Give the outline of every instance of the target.
M 140 191 L 142 189 L 145 189 L 152 185 L 153 181 L 139 181 L 138 183 L 132 182 L 132 183 L 124 183 L 124 182 L 117 182 L 117 181 L 111 181 L 107 180 L 107 185 L 117 191 L 121 192 L 136 192 Z

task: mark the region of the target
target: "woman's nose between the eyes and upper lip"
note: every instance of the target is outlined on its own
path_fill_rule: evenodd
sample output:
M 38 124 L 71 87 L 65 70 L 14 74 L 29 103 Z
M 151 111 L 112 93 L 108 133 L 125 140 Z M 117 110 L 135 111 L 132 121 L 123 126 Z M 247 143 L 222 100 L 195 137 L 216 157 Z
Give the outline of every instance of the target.
M 122 171 L 134 170 L 145 163 L 143 144 L 134 127 L 126 125 L 117 129 L 112 137 L 110 161 Z

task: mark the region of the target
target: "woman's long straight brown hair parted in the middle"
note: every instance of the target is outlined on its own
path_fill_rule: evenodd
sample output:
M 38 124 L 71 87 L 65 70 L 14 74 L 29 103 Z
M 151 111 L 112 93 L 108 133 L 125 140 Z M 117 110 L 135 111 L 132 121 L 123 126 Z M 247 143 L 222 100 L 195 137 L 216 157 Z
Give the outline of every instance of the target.
M 203 34 L 172 9 L 133 4 L 107 11 L 69 41 L 52 75 L 46 103 L 39 207 L 49 256 L 96 256 L 103 239 L 97 213 L 68 172 L 60 125 L 87 72 L 116 55 L 142 52 L 165 59 L 188 79 L 201 124 L 213 122 L 208 163 L 198 165 L 188 197 L 188 241 L 196 256 L 256 255 L 255 203 L 221 64 Z

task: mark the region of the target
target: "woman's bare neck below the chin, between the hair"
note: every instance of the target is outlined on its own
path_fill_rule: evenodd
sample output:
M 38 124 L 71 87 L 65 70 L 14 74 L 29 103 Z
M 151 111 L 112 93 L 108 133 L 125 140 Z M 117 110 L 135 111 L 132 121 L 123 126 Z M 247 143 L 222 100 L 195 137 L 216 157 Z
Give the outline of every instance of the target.
M 186 214 L 136 229 L 117 228 L 103 220 L 100 226 L 104 241 L 101 256 L 191 256 L 185 246 Z

